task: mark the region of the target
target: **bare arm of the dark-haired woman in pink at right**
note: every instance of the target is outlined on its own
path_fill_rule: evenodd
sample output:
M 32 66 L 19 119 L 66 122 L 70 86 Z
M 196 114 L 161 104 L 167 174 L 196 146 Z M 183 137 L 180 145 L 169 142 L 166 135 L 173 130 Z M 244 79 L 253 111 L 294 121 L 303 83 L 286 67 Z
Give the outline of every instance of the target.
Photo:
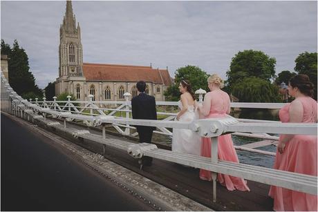
M 301 123 L 303 121 L 303 104 L 297 99 L 290 104 L 289 119 L 290 123 Z M 277 145 L 279 153 L 283 153 L 286 143 L 289 142 L 292 137 L 294 137 L 294 135 L 283 136 L 283 139 L 281 139 Z

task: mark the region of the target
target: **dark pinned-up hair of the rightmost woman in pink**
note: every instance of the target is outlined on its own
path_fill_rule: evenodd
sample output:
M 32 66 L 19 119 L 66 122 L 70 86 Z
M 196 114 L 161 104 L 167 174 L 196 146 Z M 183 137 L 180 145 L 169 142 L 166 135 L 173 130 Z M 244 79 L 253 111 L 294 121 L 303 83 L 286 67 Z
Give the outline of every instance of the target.
M 292 88 L 298 88 L 306 96 L 312 97 L 314 94 L 314 84 L 312 84 L 307 75 L 296 75 L 290 78 L 289 83 Z

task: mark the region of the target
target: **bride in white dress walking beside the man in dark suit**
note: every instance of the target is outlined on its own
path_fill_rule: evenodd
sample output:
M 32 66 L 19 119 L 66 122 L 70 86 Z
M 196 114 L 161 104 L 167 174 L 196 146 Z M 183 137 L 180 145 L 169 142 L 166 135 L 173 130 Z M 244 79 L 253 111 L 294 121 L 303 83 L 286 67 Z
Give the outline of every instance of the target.
M 198 119 L 198 113 L 196 113 L 198 104 L 189 81 L 180 81 L 179 90 L 182 94 L 180 96 L 180 101 L 178 102 L 180 112 L 176 119 L 182 122 L 191 122 L 194 119 Z M 200 136 L 191 130 L 174 128 L 172 151 L 200 155 L 200 140 Z

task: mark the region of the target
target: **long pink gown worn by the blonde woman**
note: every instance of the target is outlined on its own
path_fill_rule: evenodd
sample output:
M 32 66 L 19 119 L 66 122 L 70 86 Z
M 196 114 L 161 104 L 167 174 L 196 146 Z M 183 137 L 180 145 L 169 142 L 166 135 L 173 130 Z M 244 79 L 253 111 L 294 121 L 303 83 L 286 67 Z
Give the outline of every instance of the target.
M 214 90 L 205 95 L 211 95 L 211 108 L 209 115 L 205 118 L 225 117 L 227 109 L 230 108 L 230 97 L 223 90 Z M 205 108 L 204 108 L 205 109 Z M 207 108 L 208 109 L 208 108 Z M 211 139 L 208 137 L 201 138 L 201 156 L 211 157 Z M 233 146 L 230 134 L 218 137 L 218 160 L 238 163 L 235 148 Z M 201 180 L 212 180 L 211 171 L 200 169 Z M 250 191 L 245 180 L 240 177 L 218 174 L 218 182 L 227 187 L 227 190 L 233 191 Z

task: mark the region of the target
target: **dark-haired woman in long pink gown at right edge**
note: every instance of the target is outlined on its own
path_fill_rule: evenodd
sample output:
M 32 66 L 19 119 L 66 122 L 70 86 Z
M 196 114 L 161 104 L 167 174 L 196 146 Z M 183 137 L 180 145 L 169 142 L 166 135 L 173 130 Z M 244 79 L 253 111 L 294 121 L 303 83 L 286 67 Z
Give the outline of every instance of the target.
M 317 122 L 313 88 L 307 75 L 290 79 L 288 93 L 295 99 L 279 110 L 281 122 Z M 317 135 L 280 135 L 274 168 L 317 176 Z M 277 186 L 270 187 L 269 195 L 274 199 L 275 211 L 317 211 L 317 195 Z

